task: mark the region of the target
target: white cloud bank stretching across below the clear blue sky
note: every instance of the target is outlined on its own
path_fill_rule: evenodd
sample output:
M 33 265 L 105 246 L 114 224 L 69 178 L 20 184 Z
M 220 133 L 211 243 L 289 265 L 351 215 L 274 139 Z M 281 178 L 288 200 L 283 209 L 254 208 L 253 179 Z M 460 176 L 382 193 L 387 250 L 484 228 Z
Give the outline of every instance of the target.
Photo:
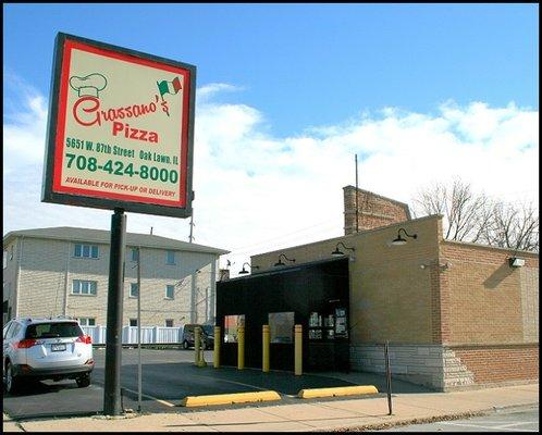
M 281 138 L 267 134 L 257 108 L 212 101 L 235 89 L 197 90 L 194 156 L 195 243 L 234 250 L 233 275 L 252 253 L 342 235 L 355 153 L 359 187 L 399 201 L 460 177 L 494 197 L 538 203 L 538 111 L 483 102 L 446 102 L 436 114 L 385 108 Z M 27 92 L 25 111 L 4 122 L 4 231 L 108 229 L 111 212 L 39 202 L 46 117 L 44 97 Z M 127 226 L 187 240 L 188 222 L 128 213 Z

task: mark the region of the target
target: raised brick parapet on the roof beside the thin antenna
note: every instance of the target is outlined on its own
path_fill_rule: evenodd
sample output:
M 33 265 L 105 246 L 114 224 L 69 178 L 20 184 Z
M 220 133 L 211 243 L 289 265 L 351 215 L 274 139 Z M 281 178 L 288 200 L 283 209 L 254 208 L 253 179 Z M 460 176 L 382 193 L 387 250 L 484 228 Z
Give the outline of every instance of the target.
M 344 234 L 356 232 L 356 188 L 346 186 L 344 192 Z M 372 229 L 410 220 L 408 206 L 371 191 L 358 189 L 358 229 Z

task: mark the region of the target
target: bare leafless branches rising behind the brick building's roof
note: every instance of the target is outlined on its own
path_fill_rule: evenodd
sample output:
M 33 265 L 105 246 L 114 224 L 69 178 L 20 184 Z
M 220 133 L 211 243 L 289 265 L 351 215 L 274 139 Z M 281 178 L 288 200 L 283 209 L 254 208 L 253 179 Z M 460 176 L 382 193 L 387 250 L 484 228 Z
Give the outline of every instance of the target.
M 442 214 L 444 238 L 516 250 L 539 250 L 539 215 L 532 204 L 515 207 L 475 194 L 469 184 L 434 184 L 414 199 L 416 216 Z

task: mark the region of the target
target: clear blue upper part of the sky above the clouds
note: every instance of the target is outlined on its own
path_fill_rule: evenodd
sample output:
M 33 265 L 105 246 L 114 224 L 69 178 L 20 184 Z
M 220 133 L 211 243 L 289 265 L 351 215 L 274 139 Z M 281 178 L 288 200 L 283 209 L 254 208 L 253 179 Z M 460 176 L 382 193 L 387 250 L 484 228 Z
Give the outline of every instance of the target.
M 195 64 L 279 135 L 387 105 L 539 107 L 535 4 L 4 4 L 4 69 L 47 95 L 58 30 Z

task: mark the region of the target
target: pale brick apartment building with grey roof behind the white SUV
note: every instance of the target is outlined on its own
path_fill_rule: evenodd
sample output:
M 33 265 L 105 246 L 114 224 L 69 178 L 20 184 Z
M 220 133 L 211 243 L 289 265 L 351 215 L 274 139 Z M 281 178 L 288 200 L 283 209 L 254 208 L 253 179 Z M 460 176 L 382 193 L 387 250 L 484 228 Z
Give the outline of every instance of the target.
M 3 321 L 72 315 L 106 325 L 110 232 L 52 227 L 3 237 Z M 137 322 L 137 248 L 141 326 L 214 321 L 218 260 L 227 251 L 147 234 L 126 234 L 123 325 Z

